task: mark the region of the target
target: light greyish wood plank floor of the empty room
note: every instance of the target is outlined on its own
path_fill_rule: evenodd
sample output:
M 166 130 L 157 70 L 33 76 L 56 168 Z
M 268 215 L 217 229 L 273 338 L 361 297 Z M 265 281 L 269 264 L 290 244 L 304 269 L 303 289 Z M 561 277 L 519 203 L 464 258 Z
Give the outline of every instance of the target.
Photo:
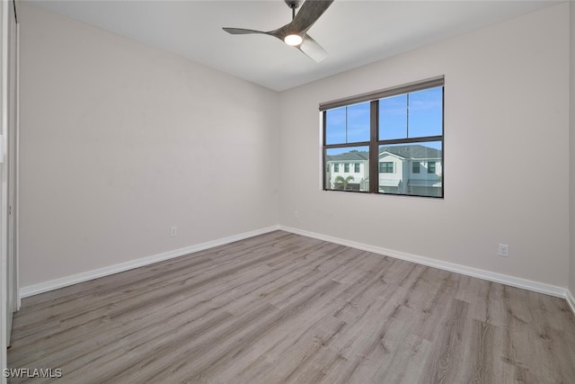
M 24 299 L 12 343 L 63 383 L 575 383 L 565 300 L 281 231 Z

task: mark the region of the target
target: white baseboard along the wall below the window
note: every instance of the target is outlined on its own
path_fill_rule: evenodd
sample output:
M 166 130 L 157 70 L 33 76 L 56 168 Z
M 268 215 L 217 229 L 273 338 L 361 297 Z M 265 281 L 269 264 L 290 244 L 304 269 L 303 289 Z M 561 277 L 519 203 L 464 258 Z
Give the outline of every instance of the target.
M 329 241 L 330 243 L 339 244 L 341 246 L 349 246 L 352 248 L 361 249 L 363 251 L 373 252 L 374 254 L 378 255 L 385 255 L 394 257 L 396 259 L 402 259 L 413 263 L 420 263 L 423 265 L 428 265 L 430 267 L 435 267 L 438 269 L 461 273 L 467 276 L 476 277 L 482 280 L 493 281 L 493 282 L 500 282 L 501 284 L 510 285 L 512 287 L 522 288 L 524 290 L 533 290 L 535 292 L 544 293 L 547 295 L 567 299 L 569 302 L 570 299 L 568 298 L 569 290 L 566 290 L 562 287 L 557 287 L 551 284 L 544 284 L 543 282 L 531 281 L 526 279 L 520 279 L 517 277 L 509 276 L 506 274 L 496 273 L 496 272 L 489 272 L 484 271 L 478 268 L 467 267 L 464 265 L 456 264 L 456 263 L 447 263 L 442 262 L 439 260 L 431 259 L 429 257 L 424 257 L 420 255 L 411 255 L 406 254 L 404 252 L 394 251 L 393 249 L 386 249 L 380 246 L 369 246 L 367 244 L 358 243 L 355 241 L 345 240 L 338 237 L 331 237 L 327 235 L 322 235 L 314 232 L 308 232 L 303 229 L 298 228 L 291 228 L 285 226 L 279 226 L 280 230 L 284 230 L 286 232 L 291 232 L 296 235 L 301 235 L 305 237 L 313 237 L 318 240 Z M 570 293 L 571 295 L 571 293 Z M 571 309 L 573 309 L 573 314 L 575 314 L 575 300 L 571 296 Z

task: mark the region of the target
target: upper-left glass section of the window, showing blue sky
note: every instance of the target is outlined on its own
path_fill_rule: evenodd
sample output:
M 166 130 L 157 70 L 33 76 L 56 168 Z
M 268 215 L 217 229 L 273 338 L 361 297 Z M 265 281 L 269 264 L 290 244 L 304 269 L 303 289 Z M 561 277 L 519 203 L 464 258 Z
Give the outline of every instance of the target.
M 348 105 L 325 112 L 325 144 L 369 141 L 369 103 Z

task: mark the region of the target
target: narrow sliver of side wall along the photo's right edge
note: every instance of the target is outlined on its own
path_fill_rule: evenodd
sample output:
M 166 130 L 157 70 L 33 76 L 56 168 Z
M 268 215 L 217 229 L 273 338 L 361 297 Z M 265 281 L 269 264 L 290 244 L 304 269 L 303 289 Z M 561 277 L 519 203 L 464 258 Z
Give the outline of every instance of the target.
M 571 26 L 571 34 L 570 34 L 570 52 L 571 52 L 571 60 L 570 60 L 570 85 L 571 85 L 571 92 L 570 92 L 570 103 L 571 103 L 571 110 L 570 110 L 570 175 L 571 175 L 571 205 L 570 205 L 570 212 L 571 212 L 571 226 L 570 226 L 570 235 L 571 235 L 571 263 L 570 263 L 570 278 L 569 278 L 569 290 L 571 290 L 571 295 L 575 296 L 575 3 L 570 2 L 570 26 Z

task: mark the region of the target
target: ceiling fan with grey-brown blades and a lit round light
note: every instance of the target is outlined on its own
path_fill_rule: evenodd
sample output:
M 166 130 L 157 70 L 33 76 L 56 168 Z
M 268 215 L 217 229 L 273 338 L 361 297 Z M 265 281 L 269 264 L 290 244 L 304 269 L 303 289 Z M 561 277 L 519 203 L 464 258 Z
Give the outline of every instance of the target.
M 283 40 L 289 46 L 301 50 L 315 62 L 320 62 L 327 56 L 327 52 L 322 48 L 307 31 L 317 22 L 317 19 L 333 3 L 333 0 L 306 0 L 302 8 L 296 13 L 301 0 L 285 0 L 291 8 L 292 21 L 283 27 L 273 31 L 245 30 L 243 28 L 222 28 L 233 35 L 243 35 L 250 33 L 262 33 Z

